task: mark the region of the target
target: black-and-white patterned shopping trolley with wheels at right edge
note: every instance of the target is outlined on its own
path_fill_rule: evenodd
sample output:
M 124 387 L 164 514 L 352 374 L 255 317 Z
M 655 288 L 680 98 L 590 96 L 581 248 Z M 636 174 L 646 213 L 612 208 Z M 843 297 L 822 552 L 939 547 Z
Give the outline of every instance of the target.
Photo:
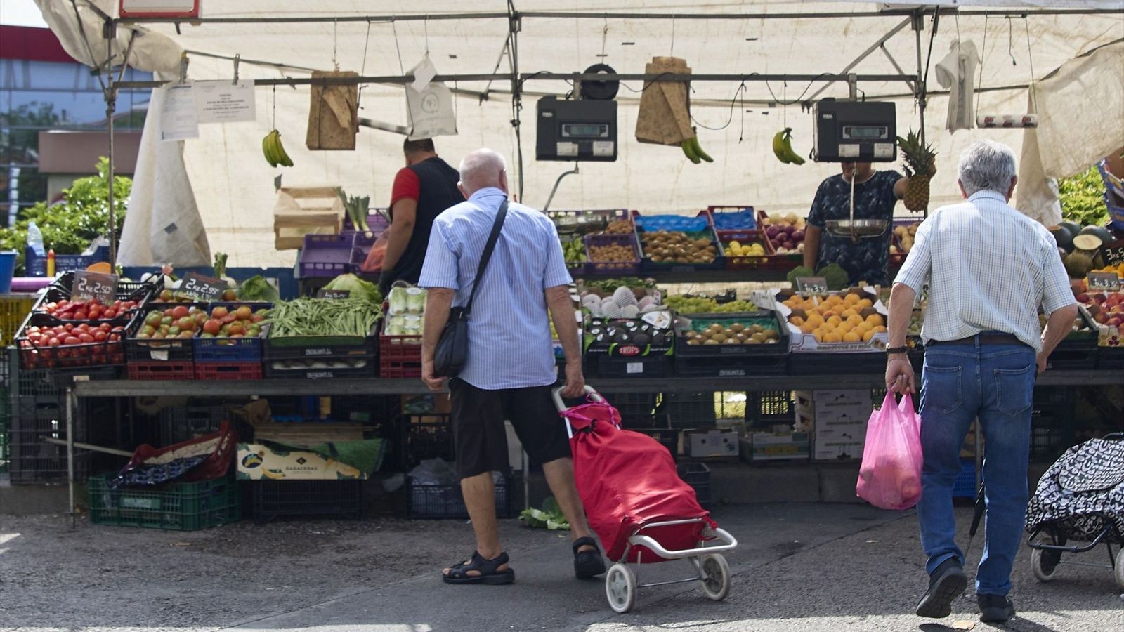
M 1062 553 L 1084 553 L 1100 543 L 1124 590 L 1124 433 L 1070 448 L 1042 475 L 1026 508 L 1027 545 L 1034 577 L 1050 581 Z M 1067 544 L 1079 542 L 1080 544 Z M 1113 545 L 1117 551 L 1113 554 Z

